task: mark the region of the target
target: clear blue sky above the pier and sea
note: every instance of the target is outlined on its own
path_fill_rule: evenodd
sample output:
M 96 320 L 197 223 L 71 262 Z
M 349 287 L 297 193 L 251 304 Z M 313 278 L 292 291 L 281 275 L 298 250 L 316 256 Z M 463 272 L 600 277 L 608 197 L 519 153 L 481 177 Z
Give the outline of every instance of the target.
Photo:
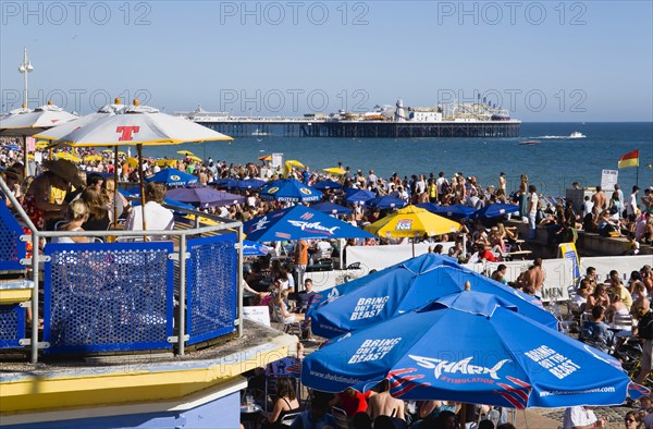
M 477 94 L 525 121 L 652 121 L 651 1 L 4 1 L 2 110 L 301 115 Z

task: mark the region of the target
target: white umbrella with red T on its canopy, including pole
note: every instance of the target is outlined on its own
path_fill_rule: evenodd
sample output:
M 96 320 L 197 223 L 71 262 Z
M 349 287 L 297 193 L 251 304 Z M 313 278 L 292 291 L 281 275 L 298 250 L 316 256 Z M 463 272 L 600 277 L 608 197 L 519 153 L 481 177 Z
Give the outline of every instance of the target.
M 71 133 L 61 136 L 57 143 L 73 147 L 135 145 L 138 150 L 140 198 L 141 205 L 145 206 L 141 161 L 144 145 L 176 145 L 186 142 L 231 139 L 233 138 L 230 136 L 187 119 L 161 113 L 152 107 L 140 106 L 138 100 L 134 100 L 134 106 L 78 126 Z M 143 218 L 145 223 L 145 216 Z

